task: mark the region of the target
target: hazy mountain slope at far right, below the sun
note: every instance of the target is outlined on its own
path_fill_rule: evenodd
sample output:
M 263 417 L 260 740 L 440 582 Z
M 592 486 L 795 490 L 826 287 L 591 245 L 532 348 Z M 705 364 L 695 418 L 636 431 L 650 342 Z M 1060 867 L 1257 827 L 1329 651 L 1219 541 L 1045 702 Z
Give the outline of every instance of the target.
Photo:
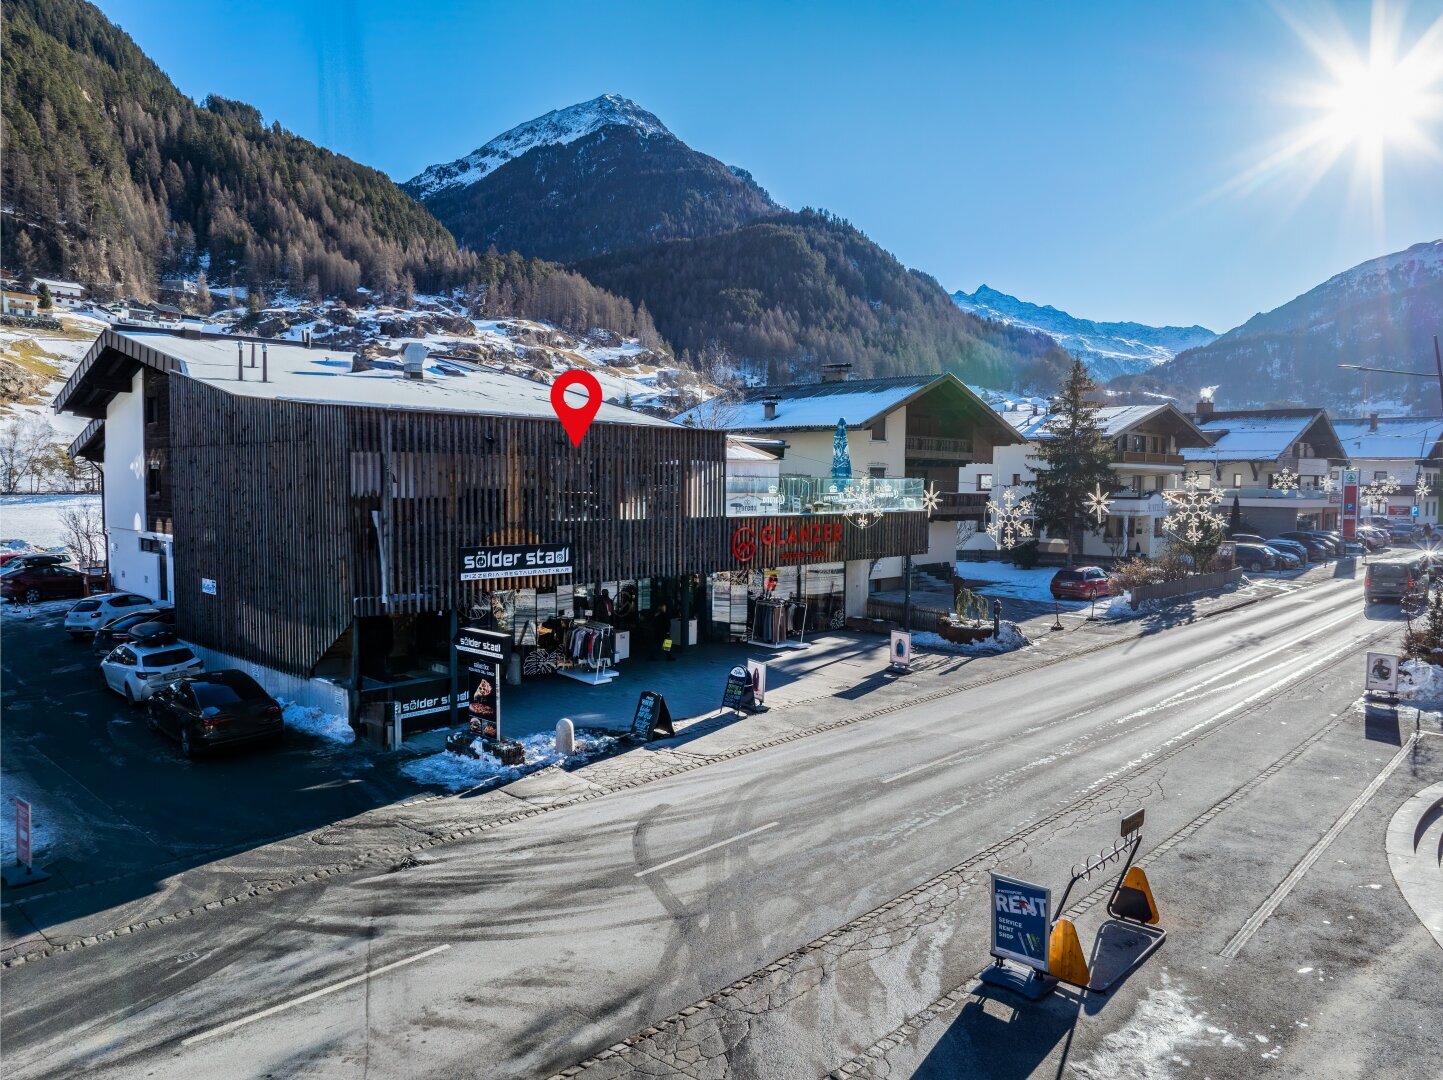
M 1216 384 L 1216 400 L 1234 407 L 1294 399 L 1354 406 L 1364 380 L 1339 364 L 1431 371 L 1439 326 L 1443 240 L 1430 240 L 1335 274 L 1215 342 L 1180 352 L 1154 374 L 1182 387 Z M 1437 409 L 1431 378 L 1367 378 L 1369 400 Z

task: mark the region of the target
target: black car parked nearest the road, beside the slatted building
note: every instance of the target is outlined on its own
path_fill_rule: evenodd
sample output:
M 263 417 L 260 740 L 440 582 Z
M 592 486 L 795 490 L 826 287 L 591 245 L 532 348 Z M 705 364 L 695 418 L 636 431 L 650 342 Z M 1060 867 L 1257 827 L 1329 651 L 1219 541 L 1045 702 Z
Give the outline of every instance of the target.
M 242 742 L 280 742 L 286 731 L 280 703 L 234 670 L 186 676 L 153 692 L 147 722 L 179 739 L 188 758 Z

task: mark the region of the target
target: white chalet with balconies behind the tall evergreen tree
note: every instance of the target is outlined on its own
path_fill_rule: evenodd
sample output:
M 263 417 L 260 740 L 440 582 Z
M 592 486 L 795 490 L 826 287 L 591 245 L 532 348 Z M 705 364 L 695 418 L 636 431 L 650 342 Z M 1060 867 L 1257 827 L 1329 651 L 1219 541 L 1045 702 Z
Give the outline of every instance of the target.
M 962 488 L 1000 494 L 1009 487 L 1032 484 L 1038 446 L 1052 437 L 1052 413 L 1035 406 L 1009 409 L 1001 417 L 1026 440 L 997 452 L 996 468 L 970 465 L 962 469 Z M 1082 557 L 1121 559 L 1143 554 L 1157 557 L 1167 547 L 1163 531 L 1167 504 L 1162 492 L 1176 488 L 1186 471 L 1183 452 L 1208 446 L 1208 437 L 1172 404 L 1110 406 L 1097 411 L 1097 422 L 1113 443 L 1111 505 L 1102 524 L 1082 537 Z M 973 537 L 970 550 L 994 547 L 984 533 Z

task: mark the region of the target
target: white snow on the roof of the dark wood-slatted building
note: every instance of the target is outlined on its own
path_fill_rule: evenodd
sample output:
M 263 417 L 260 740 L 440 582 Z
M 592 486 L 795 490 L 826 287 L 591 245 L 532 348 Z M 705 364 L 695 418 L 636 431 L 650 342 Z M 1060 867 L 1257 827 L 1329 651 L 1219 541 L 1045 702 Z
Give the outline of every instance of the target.
M 235 338 L 183 338 L 175 334 L 123 331 L 126 338 L 180 361 L 190 378 L 245 397 L 278 401 L 355 404 L 381 409 L 424 409 L 433 411 L 482 413 L 491 416 L 554 417 L 551 387 L 519 375 L 478 368 L 446 360 L 427 360 L 426 377 L 407 378 L 401 360 L 375 360 L 369 371 L 352 373 L 351 354 L 326 348 L 267 342 L 267 375 L 261 381 L 261 347 L 255 344 L 255 367 L 250 365 L 253 342 Z M 245 355 L 245 378 L 237 378 L 235 347 Z M 582 400 L 582 393 L 569 399 Z M 644 413 L 602 403 L 596 420 L 608 423 L 671 427 Z

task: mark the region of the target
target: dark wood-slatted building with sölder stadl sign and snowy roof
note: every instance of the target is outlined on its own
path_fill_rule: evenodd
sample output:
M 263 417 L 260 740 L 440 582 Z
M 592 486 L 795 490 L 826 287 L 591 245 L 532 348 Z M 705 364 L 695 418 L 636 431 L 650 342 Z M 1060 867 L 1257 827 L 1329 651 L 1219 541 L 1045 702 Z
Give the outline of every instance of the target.
M 798 640 L 846 576 L 926 550 L 921 508 L 730 507 L 729 458 L 766 484 L 766 443 L 603 403 L 576 448 L 543 383 L 309 345 L 108 329 L 56 409 L 91 419 L 72 452 L 102 469 L 117 588 L 172 599 L 208 667 L 352 723 L 453 718 L 460 628 L 509 635 L 517 693 L 595 686 L 662 638 Z

